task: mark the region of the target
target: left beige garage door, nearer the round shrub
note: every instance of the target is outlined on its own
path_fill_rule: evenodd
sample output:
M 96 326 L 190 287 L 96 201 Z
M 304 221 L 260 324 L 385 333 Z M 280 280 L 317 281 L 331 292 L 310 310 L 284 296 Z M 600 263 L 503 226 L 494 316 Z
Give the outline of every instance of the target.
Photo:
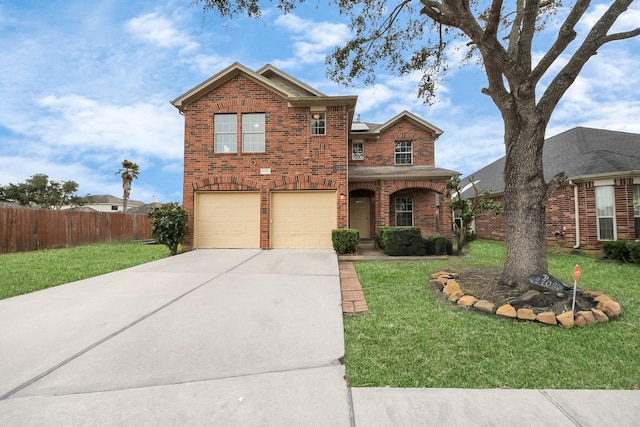
M 197 248 L 259 248 L 260 193 L 196 194 Z

